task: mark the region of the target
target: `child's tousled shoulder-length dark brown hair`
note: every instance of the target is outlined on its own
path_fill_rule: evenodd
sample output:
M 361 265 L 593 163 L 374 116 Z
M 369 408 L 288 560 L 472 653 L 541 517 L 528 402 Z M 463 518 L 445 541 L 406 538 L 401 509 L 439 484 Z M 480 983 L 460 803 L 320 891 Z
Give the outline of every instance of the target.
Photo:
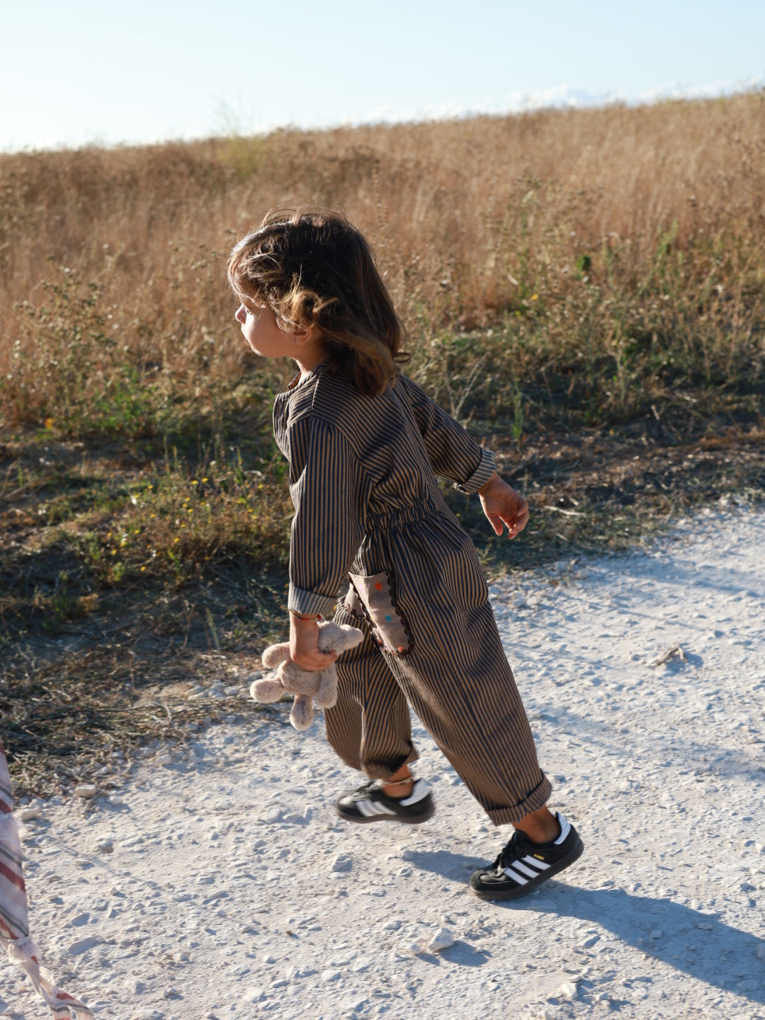
M 374 253 L 340 212 L 271 209 L 226 266 L 245 305 L 266 305 L 283 329 L 315 325 L 333 370 L 362 393 L 381 393 L 409 355 Z

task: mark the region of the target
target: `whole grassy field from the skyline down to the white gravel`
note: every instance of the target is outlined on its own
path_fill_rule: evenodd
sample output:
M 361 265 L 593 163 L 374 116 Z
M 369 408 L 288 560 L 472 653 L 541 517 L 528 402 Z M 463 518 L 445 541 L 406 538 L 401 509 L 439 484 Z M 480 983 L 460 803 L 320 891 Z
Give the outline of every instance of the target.
M 29 788 L 172 727 L 160 684 L 282 626 L 289 368 L 245 350 L 222 267 L 297 204 L 367 233 L 408 370 L 528 495 L 509 547 L 451 497 L 488 567 L 765 489 L 765 93 L 0 156 L 0 709 Z

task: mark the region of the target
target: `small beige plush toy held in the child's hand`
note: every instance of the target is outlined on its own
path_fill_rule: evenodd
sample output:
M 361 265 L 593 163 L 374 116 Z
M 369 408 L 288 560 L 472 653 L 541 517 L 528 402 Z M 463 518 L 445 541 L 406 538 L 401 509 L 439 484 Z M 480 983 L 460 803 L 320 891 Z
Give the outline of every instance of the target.
M 321 652 L 345 652 L 363 641 L 363 633 L 344 623 L 319 623 L 318 646 Z M 318 672 L 296 666 L 290 658 L 290 645 L 269 645 L 262 655 L 267 669 L 278 666 L 275 676 L 255 680 L 250 694 L 266 704 L 278 701 L 285 692 L 295 695 L 290 722 L 296 729 L 308 729 L 313 722 L 313 702 L 317 708 L 332 708 L 338 700 L 338 670 L 332 662 Z

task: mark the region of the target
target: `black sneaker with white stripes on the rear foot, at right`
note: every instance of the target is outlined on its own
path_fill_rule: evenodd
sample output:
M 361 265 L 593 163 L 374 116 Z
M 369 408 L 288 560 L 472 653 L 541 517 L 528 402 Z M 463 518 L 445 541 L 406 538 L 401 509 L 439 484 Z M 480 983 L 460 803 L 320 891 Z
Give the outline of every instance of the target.
M 472 873 L 470 888 L 481 900 L 512 900 L 525 896 L 573 864 L 584 846 L 576 829 L 560 812 L 560 835 L 551 843 L 532 843 L 518 829 L 491 868 Z

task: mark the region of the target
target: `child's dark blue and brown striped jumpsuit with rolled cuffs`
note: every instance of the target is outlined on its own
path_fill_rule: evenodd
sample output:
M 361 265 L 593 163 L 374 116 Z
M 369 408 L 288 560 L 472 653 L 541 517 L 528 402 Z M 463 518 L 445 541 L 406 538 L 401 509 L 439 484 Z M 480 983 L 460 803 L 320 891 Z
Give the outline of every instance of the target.
M 390 778 L 417 758 L 409 702 L 495 824 L 543 807 L 550 783 L 487 583 L 434 473 L 474 493 L 493 454 L 406 376 L 368 397 L 326 362 L 276 397 L 273 427 L 295 505 L 289 608 L 364 632 L 338 660 L 334 750 Z

